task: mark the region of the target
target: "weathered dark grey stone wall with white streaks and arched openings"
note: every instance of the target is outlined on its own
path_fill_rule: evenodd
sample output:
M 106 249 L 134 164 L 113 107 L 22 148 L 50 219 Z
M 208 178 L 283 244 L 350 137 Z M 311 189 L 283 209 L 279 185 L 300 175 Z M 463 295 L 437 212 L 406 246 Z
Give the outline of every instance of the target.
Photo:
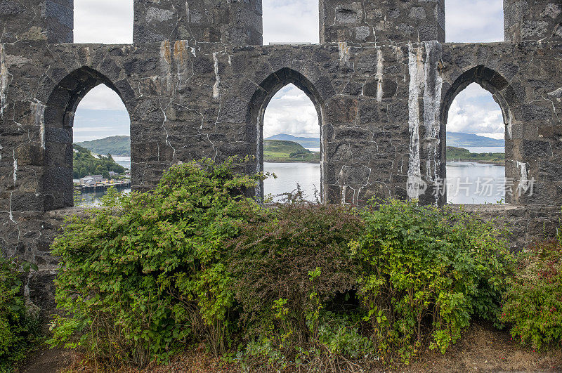
M 134 6 L 134 44 L 70 44 L 72 0 L 0 0 L 0 245 L 40 265 L 33 281 L 56 268 L 49 246 L 74 211 L 74 111 L 98 84 L 129 111 L 137 190 L 200 157 L 255 156 L 246 169 L 261 170 L 263 113 L 293 83 L 318 110 L 325 202 L 443 204 L 423 185 L 445 177 L 447 112 L 476 82 L 502 107 L 507 178 L 536 181 L 532 196 L 508 193 L 511 206 L 488 214 L 516 224 L 518 245 L 558 224 L 559 0 L 505 0 L 496 44 L 445 43 L 443 0 L 320 0 L 312 46 L 261 46 L 261 0 Z

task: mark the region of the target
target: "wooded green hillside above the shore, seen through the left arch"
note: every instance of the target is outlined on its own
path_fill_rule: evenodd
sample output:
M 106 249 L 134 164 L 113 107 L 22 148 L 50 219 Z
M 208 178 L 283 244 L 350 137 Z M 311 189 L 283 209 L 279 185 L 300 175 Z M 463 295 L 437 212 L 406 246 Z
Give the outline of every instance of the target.
M 83 178 L 87 175 L 103 175 L 104 178 L 109 178 L 110 171 L 117 172 L 117 174 L 124 174 L 125 168 L 120 166 L 113 160 L 111 155 L 103 156 L 98 155 L 94 157 L 91 151 L 82 148 L 80 145 L 74 144 L 74 163 L 72 176 L 74 178 Z

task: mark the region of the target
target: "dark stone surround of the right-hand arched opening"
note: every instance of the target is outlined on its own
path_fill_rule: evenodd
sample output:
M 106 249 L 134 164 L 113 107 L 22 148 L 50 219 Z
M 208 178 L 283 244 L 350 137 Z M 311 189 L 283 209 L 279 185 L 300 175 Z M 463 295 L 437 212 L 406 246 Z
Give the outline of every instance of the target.
M 502 74 L 484 65 L 472 67 L 461 74 L 444 93 L 440 111 L 440 157 L 443 160 L 447 159 L 447 120 L 452 102 L 459 93 L 473 83 L 479 84 L 483 89 L 490 92 L 502 110 L 505 125 L 506 180 L 513 181 L 514 185 L 518 185 L 521 182 L 521 172 L 518 171 L 518 164 L 521 164 L 521 159 L 517 156 L 519 152 L 516 152 L 515 149 L 517 136 L 514 133 L 514 126 L 516 126 L 514 112 L 516 112 L 519 105 L 517 95 L 513 87 L 509 85 L 509 81 Z M 440 163 L 439 175 L 440 178 L 446 178 L 446 162 Z M 517 198 L 512 192 L 513 190 L 506 189 L 506 202 L 509 204 L 517 203 Z

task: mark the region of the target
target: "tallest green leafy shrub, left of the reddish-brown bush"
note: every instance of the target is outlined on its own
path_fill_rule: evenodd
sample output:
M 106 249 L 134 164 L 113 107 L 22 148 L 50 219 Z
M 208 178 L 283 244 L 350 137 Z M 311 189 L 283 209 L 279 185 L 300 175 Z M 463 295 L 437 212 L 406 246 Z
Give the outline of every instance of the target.
M 223 242 L 259 216 L 243 197 L 261 176 L 234 159 L 174 166 L 149 193 L 110 194 L 105 209 L 74 216 L 53 244 L 61 258 L 53 344 L 84 346 L 100 362 L 166 360 L 179 341 L 225 350 L 228 284 Z

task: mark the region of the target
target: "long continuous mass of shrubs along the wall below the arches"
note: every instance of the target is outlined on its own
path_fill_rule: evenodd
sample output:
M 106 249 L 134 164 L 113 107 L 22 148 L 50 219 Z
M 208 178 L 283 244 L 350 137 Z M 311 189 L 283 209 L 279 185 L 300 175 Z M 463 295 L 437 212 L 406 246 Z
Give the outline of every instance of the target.
M 175 166 L 72 218 L 51 343 L 146 365 L 204 341 L 251 369 L 323 371 L 445 352 L 472 318 L 496 320 L 510 262 L 491 223 L 394 200 L 266 208 L 244 197 L 263 176 L 233 162 Z

